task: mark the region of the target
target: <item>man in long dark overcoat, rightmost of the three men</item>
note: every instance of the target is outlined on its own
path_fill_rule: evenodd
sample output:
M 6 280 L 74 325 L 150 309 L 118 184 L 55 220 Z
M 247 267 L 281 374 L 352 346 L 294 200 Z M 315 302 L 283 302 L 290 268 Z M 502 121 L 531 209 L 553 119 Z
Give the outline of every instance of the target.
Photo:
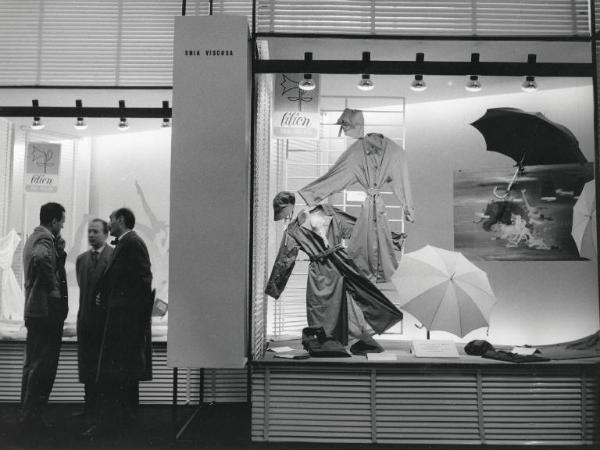
M 152 272 L 144 241 L 127 208 L 110 215 L 115 250 L 98 283 L 98 303 L 106 310 L 96 380 L 99 422 L 125 426 L 135 418 L 140 381 L 152 379 Z

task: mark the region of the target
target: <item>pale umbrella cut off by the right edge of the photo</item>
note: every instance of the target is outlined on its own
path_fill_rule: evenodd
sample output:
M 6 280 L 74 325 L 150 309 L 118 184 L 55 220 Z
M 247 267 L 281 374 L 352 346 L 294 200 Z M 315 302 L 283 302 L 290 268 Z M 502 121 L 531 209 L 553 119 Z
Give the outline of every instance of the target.
M 571 236 L 577 244 L 579 256 L 593 259 L 598 254 L 596 245 L 596 186 L 594 180 L 585 183 L 577 203 L 573 206 Z

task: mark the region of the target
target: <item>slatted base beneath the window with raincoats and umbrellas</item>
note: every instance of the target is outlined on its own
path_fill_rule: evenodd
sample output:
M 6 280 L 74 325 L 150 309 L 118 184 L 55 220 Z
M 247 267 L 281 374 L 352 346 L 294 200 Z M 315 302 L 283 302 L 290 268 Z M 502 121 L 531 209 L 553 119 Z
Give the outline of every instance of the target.
M 380 342 L 390 352 L 409 347 L 407 341 Z M 374 362 L 364 356 L 286 360 L 267 352 L 252 367 L 252 439 L 597 442 L 599 358 L 515 364 L 461 353 L 459 358 L 403 354 L 396 361 Z

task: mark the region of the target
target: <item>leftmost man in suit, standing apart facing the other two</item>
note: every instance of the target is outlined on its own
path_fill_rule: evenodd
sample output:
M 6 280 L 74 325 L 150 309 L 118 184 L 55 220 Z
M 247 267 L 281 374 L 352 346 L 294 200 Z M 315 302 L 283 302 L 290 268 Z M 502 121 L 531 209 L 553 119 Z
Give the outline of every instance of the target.
M 25 275 L 25 364 L 21 384 L 21 416 L 25 431 L 43 431 L 42 411 L 48 403 L 69 308 L 64 270 L 66 254 L 60 230 L 65 208 L 46 203 L 40 208 L 40 225 L 23 248 Z

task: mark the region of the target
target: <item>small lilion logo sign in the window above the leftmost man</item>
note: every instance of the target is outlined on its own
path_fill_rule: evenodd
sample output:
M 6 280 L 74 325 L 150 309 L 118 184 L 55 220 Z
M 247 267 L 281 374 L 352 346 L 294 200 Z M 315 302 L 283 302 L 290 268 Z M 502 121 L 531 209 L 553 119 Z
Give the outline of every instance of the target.
M 60 169 L 60 144 L 30 142 L 25 160 L 25 190 L 56 192 Z

